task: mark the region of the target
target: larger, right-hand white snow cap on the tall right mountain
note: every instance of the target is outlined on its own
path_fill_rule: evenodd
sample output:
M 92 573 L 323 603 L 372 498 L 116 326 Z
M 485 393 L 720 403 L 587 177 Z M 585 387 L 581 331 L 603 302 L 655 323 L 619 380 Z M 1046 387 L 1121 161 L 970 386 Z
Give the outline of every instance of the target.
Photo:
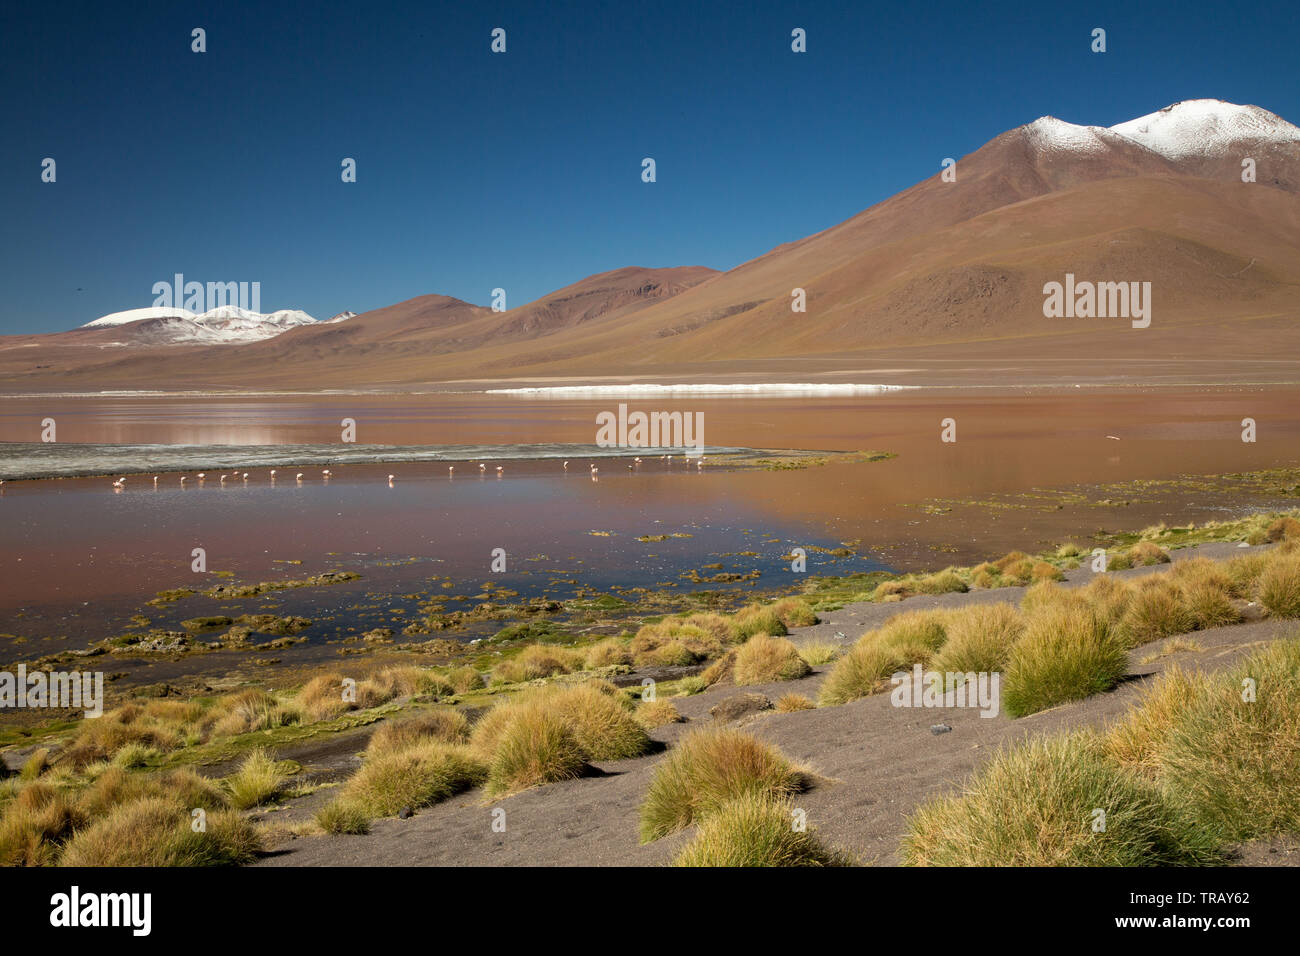
M 1219 156 L 1242 140 L 1300 142 L 1300 129 L 1280 116 L 1223 100 L 1183 100 L 1110 130 L 1171 160 Z

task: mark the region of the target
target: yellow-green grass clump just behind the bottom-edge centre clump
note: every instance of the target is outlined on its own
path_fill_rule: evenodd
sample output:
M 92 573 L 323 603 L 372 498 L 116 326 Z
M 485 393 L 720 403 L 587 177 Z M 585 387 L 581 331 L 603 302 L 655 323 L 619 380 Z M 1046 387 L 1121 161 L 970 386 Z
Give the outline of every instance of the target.
M 803 774 L 772 745 L 729 727 L 697 730 L 655 769 L 641 804 L 641 842 L 681 830 L 734 797 L 784 797 L 802 786 Z

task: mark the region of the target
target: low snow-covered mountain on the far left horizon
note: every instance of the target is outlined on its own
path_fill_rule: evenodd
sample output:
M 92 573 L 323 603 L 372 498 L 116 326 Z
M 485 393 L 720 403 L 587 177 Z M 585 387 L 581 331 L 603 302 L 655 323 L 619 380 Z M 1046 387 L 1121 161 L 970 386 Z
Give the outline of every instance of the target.
M 329 321 L 343 321 L 354 315 L 354 312 L 341 312 Z M 82 328 L 122 329 L 124 341 L 113 345 L 239 345 L 260 342 L 289 329 L 317 324 L 312 316 L 294 308 L 264 313 L 238 306 L 221 306 L 202 315 L 185 308 L 131 308 L 100 316 Z

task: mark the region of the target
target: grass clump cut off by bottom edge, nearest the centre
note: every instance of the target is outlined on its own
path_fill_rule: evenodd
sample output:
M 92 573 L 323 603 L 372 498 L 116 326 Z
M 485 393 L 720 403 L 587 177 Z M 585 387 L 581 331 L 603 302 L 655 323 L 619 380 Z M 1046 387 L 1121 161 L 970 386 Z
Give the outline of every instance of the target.
M 809 831 L 794 829 L 794 809 L 760 793 L 742 793 L 706 817 L 673 866 L 852 866 Z

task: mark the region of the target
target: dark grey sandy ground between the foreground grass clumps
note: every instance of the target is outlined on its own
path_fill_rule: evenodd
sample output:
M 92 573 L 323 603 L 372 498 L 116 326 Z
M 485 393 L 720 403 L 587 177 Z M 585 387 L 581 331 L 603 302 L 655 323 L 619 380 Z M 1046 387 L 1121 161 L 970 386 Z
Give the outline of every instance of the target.
M 1244 549 L 1243 549 L 1244 550 Z M 1235 545 L 1206 545 L 1175 551 L 1182 561 L 1193 554 L 1230 557 L 1242 553 Z M 1135 568 L 1122 576 L 1150 574 L 1160 568 Z M 1070 572 L 1070 584 L 1091 576 L 1087 567 Z M 838 640 L 845 645 L 863 631 L 902 609 L 957 606 L 975 602 L 1018 602 L 1023 588 L 992 592 L 910 598 L 902 605 L 849 605 L 824 614 L 823 623 L 800 630 L 793 640 Z M 956 788 L 1002 745 L 1031 735 L 1052 734 L 1083 726 L 1100 727 L 1121 717 L 1143 689 L 1171 662 L 1218 670 L 1234 663 L 1261 643 L 1297 632 L 1295 622 L 1261 620 L 1201 631 L 1199 652 L 1178 652 L 1150 663 L 1140 663 L 1158 650 L 1158 644 L 1132 654 L 1130 678 L 1109 693 L 1063 705 L 1013 721 L 1005 714 L 982 718 L 972 709 L 893 708 L 881 693 L 842 706 L 819 708 L 792 714 L 742 718 L 748 731 L 772 741 L 790 758 L 824 778 L 794 804 L 807 812 L 811 827 L 823 839 L 853 852 L 861 862 L 898 864 L 898 848 L 909 813 L 923 800 Z M 842 635 L 842 636 L 841 636 Z M 816 696 L 828 667 L 794 682 L 734 688 L 716 687 L 693 696 L 673 698 L 685 723 L 653 732 L 667 745 L 693 727 L 712 722 L 708 709 L 736 693 L 763 693 L 775 700 L 783 693 Z M 945 723 L 950 732 L 935 735 L 931 726 Z M 369 730 L 335 737 L 313 750 L 286 752 L 302 762 L 315 779 L 341 779 L 359 765 Z M 603 775 L 540 787 L 511 797 L 485 803 L 471 792 L 408 819 L 377 821 L 364 836 L 303 836 L 287 839 L 259 865 L 265 866 L 429 866 L 429 865 L 530 865 L 607 866 L 663 865 L 672 860 L 692 831 L 637 843 L 637 808 L 655 765 L 663 753 L 599 765 Z M 285 809 L 263 814 L 268 822 L 302 822 L 317 806 L 333 799 L 325 788 Z M 504 832 L 493 832 L 493 809 L 506 812 Z M 1252 865 L 1300 864 L 1300 844 L 1278 839 L 1240 849 L 1239 861 Z

